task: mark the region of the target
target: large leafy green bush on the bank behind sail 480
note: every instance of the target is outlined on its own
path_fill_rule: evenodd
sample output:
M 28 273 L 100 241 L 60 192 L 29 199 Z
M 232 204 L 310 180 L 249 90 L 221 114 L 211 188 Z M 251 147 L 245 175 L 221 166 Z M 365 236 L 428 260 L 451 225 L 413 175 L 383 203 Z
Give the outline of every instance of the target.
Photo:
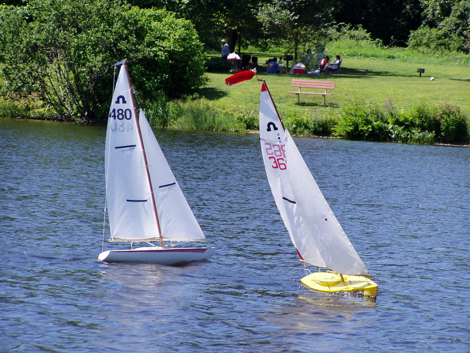
M 31 0 L 0 12 L 2 93 L 39 99 L 57 114 L 103 117 L 113 64 L 127 59 L 134 87 L 149 100 L 180 97 L 205 83 L 193 25 L 164 10 L 119 0 Z M 175 84 L 177 83 L 177 84 Z

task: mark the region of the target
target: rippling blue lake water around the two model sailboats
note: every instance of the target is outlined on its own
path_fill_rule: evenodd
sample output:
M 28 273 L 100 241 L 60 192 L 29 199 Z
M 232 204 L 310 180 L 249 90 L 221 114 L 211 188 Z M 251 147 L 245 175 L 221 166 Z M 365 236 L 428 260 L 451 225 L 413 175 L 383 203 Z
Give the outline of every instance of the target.
M 105 126 L 0 119 L 0 352 L 470 351 L 470 148 L 296 139 L 371 301 L 300 283 L 258 135 L 155 132 L 210 261 L 95 260 Z

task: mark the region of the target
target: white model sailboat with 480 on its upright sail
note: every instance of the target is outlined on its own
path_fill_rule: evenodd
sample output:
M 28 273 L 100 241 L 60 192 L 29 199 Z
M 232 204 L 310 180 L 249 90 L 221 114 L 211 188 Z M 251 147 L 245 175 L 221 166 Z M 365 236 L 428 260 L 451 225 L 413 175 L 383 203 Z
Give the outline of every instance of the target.
M 121 68 L 110 107 L 105 153 L 109 241 L 131 242 L 131 249 L 104 251 L 98 259 L 161 265 L 208 259 L 214 248 L 173 247 L 173 242 L 205 241 L 205 236 L 144 112 L 137 115 L 126 62 L 115 65 Z M 171 245 L 165 247 L 165 241 Z M 133 242 L 151 246 L 132 249 Z

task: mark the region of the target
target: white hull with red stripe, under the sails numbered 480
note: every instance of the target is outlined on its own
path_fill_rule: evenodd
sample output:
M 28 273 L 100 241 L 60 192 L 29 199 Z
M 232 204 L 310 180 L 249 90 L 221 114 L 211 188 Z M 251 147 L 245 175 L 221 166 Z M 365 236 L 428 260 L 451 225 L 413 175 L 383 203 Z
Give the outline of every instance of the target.
M 108 250 L 98 256 L 104 262 L 136 261 L 158 265 L 208 260 L 215 248 L 165 248 L 144 247 L 132 250 Z

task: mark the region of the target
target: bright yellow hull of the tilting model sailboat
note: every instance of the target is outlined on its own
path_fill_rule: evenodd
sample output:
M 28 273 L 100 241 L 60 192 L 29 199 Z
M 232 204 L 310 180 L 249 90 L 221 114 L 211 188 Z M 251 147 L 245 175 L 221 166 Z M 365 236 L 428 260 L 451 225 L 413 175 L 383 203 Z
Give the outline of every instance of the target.
M 343 278 L 341 278 L 341 276 Z M 315 272 L 300 281 L 307 287 L 325 293 L 359 292 L 366 297 L 377 296 L 377 284 L 364 276 L 340 275 L 338 273 Z

